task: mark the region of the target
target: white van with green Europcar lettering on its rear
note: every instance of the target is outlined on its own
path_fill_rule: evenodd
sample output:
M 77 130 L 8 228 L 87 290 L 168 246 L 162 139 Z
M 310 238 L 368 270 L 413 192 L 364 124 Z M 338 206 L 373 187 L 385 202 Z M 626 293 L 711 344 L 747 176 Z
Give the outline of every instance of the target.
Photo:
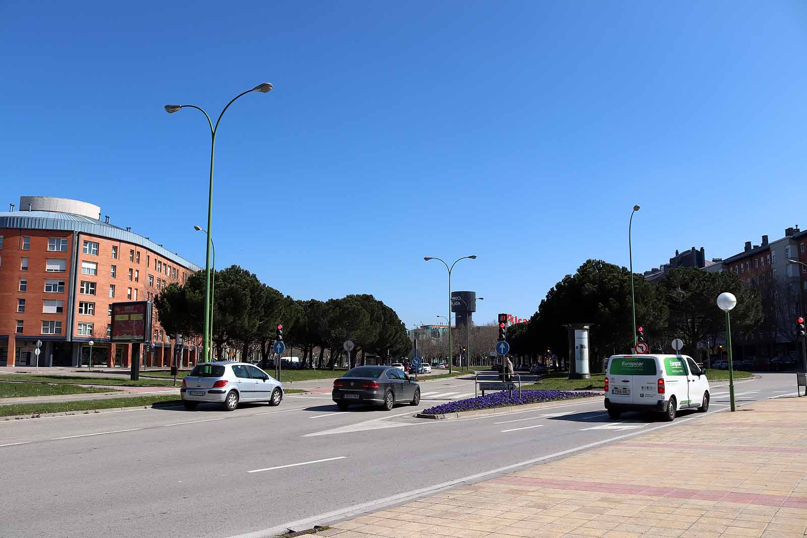
M 623 411 L 657 411 L 670 421 L 679 409 L 709 410 L 706 373 L 687 355 L 614 355 L 605 372 L 612 419 Z

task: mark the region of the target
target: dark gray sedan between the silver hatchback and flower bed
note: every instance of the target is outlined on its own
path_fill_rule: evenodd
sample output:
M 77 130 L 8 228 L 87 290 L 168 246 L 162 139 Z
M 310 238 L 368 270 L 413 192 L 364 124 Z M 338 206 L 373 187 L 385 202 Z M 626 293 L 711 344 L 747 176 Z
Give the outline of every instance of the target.
M 391 411 L 396 403 L 419 404 L 420 385 L 397 368 L 357 366 L 333 382 L 332 398 L 342 410 L 360 403 Z

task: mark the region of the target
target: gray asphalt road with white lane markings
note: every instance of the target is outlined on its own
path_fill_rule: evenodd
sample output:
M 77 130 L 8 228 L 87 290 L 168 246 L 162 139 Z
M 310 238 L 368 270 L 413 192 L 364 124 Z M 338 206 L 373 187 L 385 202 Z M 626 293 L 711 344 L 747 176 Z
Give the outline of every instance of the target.
M 738 382 L 738 402 L 795 394 L 794 374 Z M 424 402 L 342 412 L 328 394 L 227 413 L 148 409 L 0 423 L 0 476 L 10 494 L 2 536 L 274 536 L 419 494 L 492 478 L 674 423 L 602 402 L 462 420 L 415 411 L 473 393 L 470 380 L 421 383 Z M 713 385 L 710 412 L 728 406 Z M 437 401 L 429 401 L 437 398 Z M 597 473 L 598 469 L 592 469 Z

